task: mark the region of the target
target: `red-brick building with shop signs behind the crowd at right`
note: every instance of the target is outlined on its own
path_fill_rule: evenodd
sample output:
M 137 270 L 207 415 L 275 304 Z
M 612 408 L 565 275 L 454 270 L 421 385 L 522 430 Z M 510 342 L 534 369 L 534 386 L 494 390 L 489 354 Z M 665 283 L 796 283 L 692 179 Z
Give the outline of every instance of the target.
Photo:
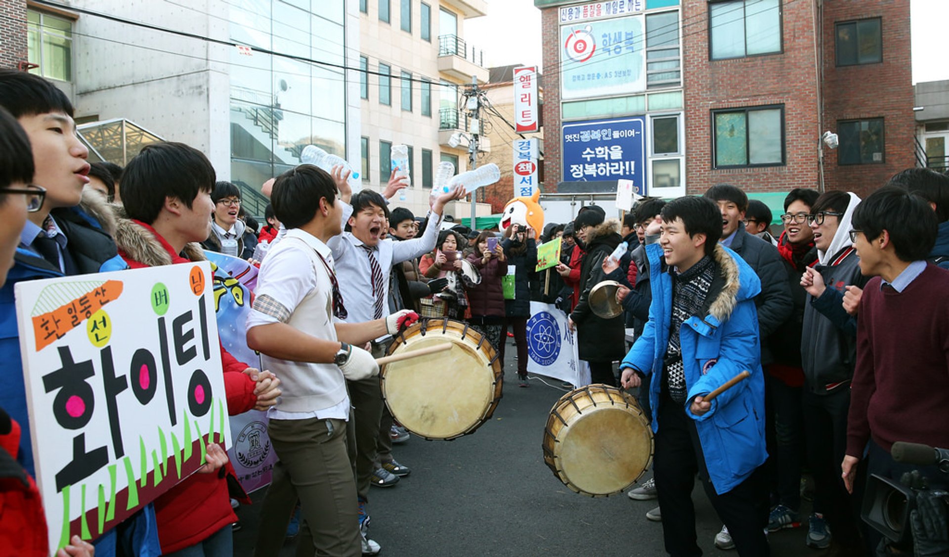
M 916 165 L 909 0 L 534 4 L 546 191 L 624 177 L 663 197 L 721 182 L 866 195 Z M 613 149 L 634 168 L 614 165 Z

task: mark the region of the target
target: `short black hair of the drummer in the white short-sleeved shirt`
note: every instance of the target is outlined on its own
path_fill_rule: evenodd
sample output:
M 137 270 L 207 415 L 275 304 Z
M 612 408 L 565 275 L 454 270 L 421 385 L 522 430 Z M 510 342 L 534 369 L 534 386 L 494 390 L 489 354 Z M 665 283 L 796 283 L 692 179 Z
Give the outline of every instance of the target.
M 336 182 L 333 176 L 312 164 L 301 164 L 277 176 L 270 192 L 273 213 L 288 230 L 313 220 L 322 198 L 330 205 L 336 201 Z

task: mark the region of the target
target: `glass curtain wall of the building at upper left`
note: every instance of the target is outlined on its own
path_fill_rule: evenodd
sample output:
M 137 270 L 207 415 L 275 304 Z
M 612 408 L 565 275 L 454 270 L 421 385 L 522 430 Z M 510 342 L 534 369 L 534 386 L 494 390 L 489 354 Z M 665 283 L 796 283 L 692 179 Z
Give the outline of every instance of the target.
M 312 143 L 345 157 L 344 3 L 231 0 L 231 180 L 245 195 Z M 286 55 L 286 56 L 283 56 Z M 266 203 L 265 203 L 266 205 Z

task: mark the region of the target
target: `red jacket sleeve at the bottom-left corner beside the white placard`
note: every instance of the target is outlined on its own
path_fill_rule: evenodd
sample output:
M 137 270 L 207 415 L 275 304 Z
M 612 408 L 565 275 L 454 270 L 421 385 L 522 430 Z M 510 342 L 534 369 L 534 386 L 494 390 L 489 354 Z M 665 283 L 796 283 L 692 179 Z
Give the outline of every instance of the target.
M 20 424 L 0 409 L 0 553 L 46 557 L 47 518 L 33 478 L 16 461 Z

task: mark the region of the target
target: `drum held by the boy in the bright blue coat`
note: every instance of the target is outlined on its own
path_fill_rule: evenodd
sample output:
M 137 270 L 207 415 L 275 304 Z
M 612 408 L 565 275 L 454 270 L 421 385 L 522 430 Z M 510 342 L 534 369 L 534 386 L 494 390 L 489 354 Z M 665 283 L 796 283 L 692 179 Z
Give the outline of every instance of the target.
M 557 479 L 574 492 L 597 497 L 636 483 L 652 461 L 653 436 L 636 399 L 616 387 L 591 384 L 553 405 L 543 448 Z

